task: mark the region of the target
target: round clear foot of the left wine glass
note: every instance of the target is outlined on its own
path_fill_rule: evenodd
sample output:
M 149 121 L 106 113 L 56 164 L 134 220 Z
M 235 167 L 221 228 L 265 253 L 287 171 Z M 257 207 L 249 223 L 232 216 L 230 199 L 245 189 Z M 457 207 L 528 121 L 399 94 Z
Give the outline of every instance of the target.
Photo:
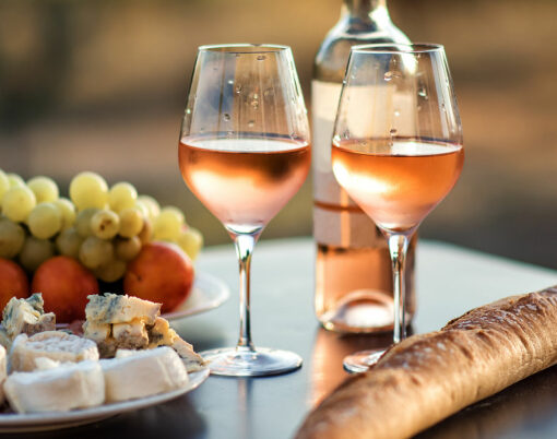
M 301 357 L 293 352 L 258 347 L 242 351 L 223 347 L 201 353 L 212 375 L 227 377 L 266 377 L 292 372 L 301 367 Z

